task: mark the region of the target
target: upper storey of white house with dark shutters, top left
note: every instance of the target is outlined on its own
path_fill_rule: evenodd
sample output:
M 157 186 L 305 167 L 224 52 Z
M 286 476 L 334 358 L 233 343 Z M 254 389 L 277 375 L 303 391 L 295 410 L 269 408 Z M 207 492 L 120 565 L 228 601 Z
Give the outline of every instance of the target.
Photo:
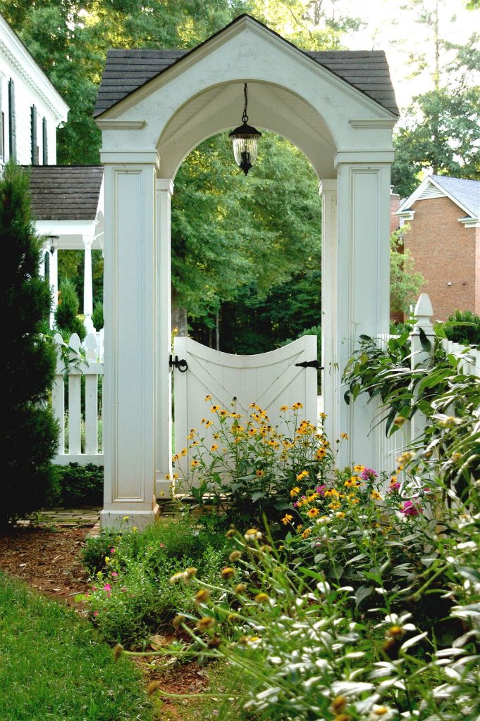
M 56 163 L 56 129 L 69 107 L 0 15 L 0 167 Z

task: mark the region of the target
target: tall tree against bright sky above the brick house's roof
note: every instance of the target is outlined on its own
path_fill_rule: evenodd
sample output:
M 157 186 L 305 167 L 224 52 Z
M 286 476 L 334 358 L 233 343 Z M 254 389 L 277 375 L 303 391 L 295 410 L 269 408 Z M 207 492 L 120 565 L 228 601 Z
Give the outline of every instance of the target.
M 424 27 L 426 42 L 411 53 L 412 76 L 429 73 L 430 88 L 414 97 L 396 131 L 396 161 L 392 182 L 397 193 L 410 195 L 420 172 L 477 179 L 480 177 L 480 36 L 467 45 L 446 39 L 449 27 L 441 27 L 440 0 L 410 0 L 416 22 Z M 453 22 L 453 20 L 452 20 Z M 430 50 L 432 61 L 428 57 Z

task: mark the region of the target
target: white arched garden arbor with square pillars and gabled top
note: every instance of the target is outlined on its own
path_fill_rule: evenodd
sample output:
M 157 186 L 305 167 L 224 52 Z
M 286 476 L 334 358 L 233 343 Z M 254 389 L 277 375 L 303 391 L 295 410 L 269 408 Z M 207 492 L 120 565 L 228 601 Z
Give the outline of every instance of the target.
M 364 55 L 309 55 L 242 16 L 189 53 L 172 52 L 170 60 L 164 53 L 160 70 L 147 81 L 128 79 L 128 68 L 124 79 L 109 81 L 122 74 L 116 68 L 109 75 L 107 67 L 97 105 L 109 299 L 103 526 L 123 516 L 136 526 L 153 521 L 156 495 L 167 487 L 173 181 L 198 143 L 238 124 L 245 82 L 250 123 L 289 138 L 320 179 L 328 436 L 333 442 L 349 435 L 339 464 L 383 465 L 375 433 L 368 435 L 375 409 L 359 402 L 347 406 L 341 389 L 341 372 L 358 336 L 388 332 L 389 319 L 391 133 L 397 112 L 388 69 L 389 89 L 384 87 L 383 53 Z M 110 57 L 120 63 L 122 51 Z M 126 63 L 130 71 L 138 57 Z M 348 60 L 354 63 L 350 75 Z

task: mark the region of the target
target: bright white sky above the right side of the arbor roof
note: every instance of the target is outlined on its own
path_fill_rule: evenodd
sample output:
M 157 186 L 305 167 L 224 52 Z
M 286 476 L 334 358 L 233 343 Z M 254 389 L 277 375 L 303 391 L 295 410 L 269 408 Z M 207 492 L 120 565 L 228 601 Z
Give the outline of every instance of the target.
M 433 33 L 414 22 L 415 12 L 401 9 L 404 1 L 326 0 L 326 3 L 332 4 L 332 1 L 336 12 L 362 17 L 366 25 L 351 32 L 344 39 L 344 45 L 350 50 L 385 50 L 398 107 L 406 107 L 415 94 L 432 87 Z M 430 2 L 433 4 L 435 0 Z M 447 37 L 451 43 L 464 44 L 474 31 L 480 32 L 480 10 L 466 10 L 463 0 L 447 0 L 439 7 L 441 37 Z M 408 63 L 412 52 L 427 53 L 428 68 L 417 77 L 411 77 Z

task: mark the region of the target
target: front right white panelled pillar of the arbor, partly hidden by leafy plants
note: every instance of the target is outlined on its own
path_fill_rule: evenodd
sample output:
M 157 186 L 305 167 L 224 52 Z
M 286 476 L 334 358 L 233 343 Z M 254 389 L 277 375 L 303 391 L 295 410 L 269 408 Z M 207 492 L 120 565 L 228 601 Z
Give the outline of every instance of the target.
M 378 157 L 380 156 L 380 157 Z M 385 158 L 383 157 L 385 156 Z M 333 324 L 332 353 L 344 371 L 352 350 L 362 334 L 388 333 L 390 312 L 390 162 L 393 154 L 342 152 L 336 156 L 338 189 L 338 234 L 336 246 L 336 321 Z M 364 397 L 346 405 L 345 386 L 335 400 L 336 431 L 349 435 L 342 441 L 339 465 L 362 464 L 380 470 L 378 434 L 374 428 L 378 407 Z M 335 439 L 333 439 L 335 440 Z

